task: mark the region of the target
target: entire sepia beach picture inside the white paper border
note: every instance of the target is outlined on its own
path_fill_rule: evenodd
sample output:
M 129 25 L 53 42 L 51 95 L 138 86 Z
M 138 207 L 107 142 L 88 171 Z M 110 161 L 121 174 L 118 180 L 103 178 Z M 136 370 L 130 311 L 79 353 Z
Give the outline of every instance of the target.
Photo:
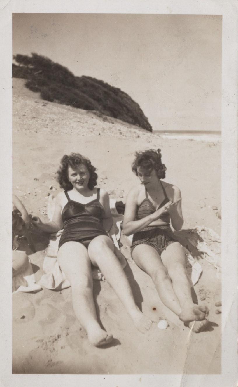
M 221 374 L 222 16 L 12 14 L 12 373 Z

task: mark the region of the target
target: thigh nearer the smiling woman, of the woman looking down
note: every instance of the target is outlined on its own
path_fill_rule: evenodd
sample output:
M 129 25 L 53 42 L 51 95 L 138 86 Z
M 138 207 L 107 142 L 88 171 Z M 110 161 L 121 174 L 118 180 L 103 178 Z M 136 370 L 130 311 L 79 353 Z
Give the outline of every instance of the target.
M 160 255 L 152 246 L 137 245 L 133 250 L 132 258 L 136 265 L 149 276 L 153 276 L 158 271 L 165 271 Z

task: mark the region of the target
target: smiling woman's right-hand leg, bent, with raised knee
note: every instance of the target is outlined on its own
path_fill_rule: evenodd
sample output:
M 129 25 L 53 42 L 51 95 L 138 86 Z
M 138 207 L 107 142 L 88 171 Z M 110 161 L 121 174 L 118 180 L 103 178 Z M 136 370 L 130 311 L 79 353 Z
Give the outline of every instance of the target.
M 110 286 L 131 316 L 136 328 L 144 333 L 152 321 L 136 306 L 126 274 L 113 252 L 113 242 L 108 236 L 97 236 L 88 246 L 88 255 L 93 265 L 100 268 Z

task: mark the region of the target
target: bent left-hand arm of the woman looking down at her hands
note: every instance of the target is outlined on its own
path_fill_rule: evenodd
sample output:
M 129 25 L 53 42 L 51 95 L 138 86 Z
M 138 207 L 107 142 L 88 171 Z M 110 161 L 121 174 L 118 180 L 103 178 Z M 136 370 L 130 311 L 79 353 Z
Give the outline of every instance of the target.
M 135 220 L 138 195 L 139 189 L 136 187 L 129 192 L 126 198 L 126 208 L 123 219 L 123 232 L 127 236 L 137 233 L 143 230 L 143 228 L 146 226 L 149 226 L 149 224 L 152 224 L 153 221 L 156 221 L 162 214 L 168 212 L 170 205 L 172 205 L 172 202 L 168 202 L 163 207 L 153 212 L 153 214 L 145 216 L 143 219 Z

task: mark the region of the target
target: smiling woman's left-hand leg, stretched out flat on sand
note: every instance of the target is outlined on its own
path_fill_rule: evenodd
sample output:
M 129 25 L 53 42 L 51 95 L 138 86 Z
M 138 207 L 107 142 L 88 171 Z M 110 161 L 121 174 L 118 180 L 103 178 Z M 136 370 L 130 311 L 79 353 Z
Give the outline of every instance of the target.
M 103 330 L 98 321 L 93 300 L 91 262 L 87 248 L 78 242 L 66 242 L 58 251 L 59 266 L 71 285 L 73 309 L 94 346 L 102 346 L 113 337 Z

